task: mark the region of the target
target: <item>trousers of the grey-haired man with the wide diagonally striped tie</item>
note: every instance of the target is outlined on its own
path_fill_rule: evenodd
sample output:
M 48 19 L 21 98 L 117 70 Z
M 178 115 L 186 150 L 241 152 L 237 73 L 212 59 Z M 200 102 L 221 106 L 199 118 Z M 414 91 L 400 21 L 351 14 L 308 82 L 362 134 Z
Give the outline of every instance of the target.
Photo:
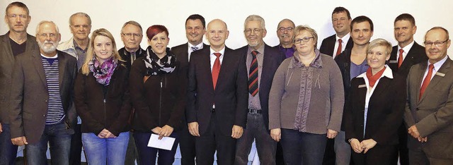
M 248 154 L 255 140 L 260 164 L 275 164 L 277 142 L 270 138 L 269 130 L 264 126 L 262 114 L 247 114 L 247 127 L 236 142 L 236 165 L 248 164 Z

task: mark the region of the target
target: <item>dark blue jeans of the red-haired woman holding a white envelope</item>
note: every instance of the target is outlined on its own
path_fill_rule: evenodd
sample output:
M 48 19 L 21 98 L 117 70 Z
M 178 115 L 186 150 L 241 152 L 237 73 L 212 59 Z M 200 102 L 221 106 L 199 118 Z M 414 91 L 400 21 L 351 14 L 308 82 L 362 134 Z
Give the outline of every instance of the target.
M 171 165 L 175 161 L 176 149 L 178 148 L 179 136 L 178 133 L 171 133 L 171 138 L 176 138 L 171 151 L 166 149 L 157 149 L 153 147 L 148 147 L 149 138 L 151 133 L 134 133 L 135 145 L 139 151 L 139 160 L 141 165 L 156 164 L 156 156 L 159 152 L 159 158 L 157 164 L 159 165 Z

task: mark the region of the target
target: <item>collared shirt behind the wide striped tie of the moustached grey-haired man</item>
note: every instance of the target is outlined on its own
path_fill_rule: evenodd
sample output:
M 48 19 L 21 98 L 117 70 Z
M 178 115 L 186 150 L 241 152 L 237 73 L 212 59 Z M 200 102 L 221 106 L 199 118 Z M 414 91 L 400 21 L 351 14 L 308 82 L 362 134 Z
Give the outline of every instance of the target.
M 253 59 L 251 52 L 254 50 L 255 49 L 251 48 L 250 46 L 248 47 L 246 59 L 247 73 L 249 73 L 250 71 L 250 66 Z M 258 47 L 256 51 L 258 51 L 258 54 L 256 54 L 256 61 L 258 61 L 258 89 L 260 89 L 261 73 L 263 72 L 264 44 L 261 45 L 261 47 Z M 260 90 L 258 90 L 258 93 L 256 93 L 254 97 L 252 96 L 252 94 L 248 93 L 248 109 L 261 109 Z

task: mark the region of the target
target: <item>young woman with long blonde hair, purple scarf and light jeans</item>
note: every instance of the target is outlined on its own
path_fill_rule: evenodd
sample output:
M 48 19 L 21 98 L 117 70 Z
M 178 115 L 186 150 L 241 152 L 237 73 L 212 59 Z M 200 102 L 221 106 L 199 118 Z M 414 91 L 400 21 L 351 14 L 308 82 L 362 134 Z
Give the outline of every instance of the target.
M 105 29 L 95 30 L 75 82 L 76 111 L 89 164 L 124 164 L 129 141 L 128 71 Z

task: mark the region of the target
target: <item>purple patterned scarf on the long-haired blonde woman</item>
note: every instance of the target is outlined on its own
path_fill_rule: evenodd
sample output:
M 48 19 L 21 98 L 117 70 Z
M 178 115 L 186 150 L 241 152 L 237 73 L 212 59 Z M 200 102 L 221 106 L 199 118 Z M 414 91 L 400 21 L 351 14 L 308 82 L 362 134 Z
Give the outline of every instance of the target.
M 113 58 L 113 56 L 101 64 L 95 55 L 88 63 L 88 69 L 93 72 L 96 81 L 104 86 L 110 84 L 110 79 L 112 78 L 113 71 L 115 71 L 116 66 L 117 60 Z

